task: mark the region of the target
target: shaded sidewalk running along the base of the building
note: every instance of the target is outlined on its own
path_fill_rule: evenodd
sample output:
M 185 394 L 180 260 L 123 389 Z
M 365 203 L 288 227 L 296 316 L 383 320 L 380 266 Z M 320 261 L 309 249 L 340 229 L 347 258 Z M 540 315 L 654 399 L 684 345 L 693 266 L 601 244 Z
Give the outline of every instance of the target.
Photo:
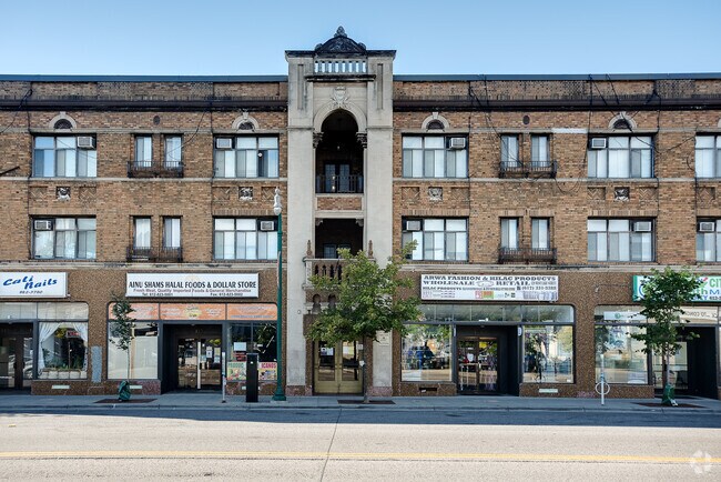
M 133 394 L 131 402 L 114 402 L 112 395 L 30 395 L 0 394 L 0 413 L 19 410 L 382 410 L 382 411 L 570 411 L 570 412 L 689 412 L 721 413 L 721 401 L 710 399 L 678 399 L 681 406 L 662 406 L 660 399 L 551 399 L 519 396 L 393 396 L 372 398 L 362 404 L 359 395 L 288 396 L 275 402 L 260 396 L 257 403 L 246 403 L 245 396 L 217 393 L 164 393 L 162 395 Z M 102 403 L 101 401 L 106 401 Z M 348 401 L 351 403 L 348 403 Z M 100 403 L 99 403 L 100 402 Z M 108 403 L 109 402 L 109 403 Z M 355 403 L 357 402 L 357 403 Z M 648 406 L 647 404 L 653 404 Z M 688 405 L 688 406 L 684 406 Z

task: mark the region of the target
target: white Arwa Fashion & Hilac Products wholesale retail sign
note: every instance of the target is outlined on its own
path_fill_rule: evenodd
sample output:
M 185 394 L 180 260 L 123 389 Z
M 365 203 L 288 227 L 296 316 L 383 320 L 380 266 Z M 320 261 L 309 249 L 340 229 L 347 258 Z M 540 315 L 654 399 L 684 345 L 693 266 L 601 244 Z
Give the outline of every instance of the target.
M 557 301 L 558 277 L 530 274 L 422 274 L 423 300 Z

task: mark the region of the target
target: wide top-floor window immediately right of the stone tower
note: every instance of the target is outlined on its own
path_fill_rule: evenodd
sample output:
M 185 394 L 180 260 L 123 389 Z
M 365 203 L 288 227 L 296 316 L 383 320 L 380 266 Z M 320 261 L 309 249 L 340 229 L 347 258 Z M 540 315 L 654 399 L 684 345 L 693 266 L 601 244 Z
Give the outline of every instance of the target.
M 404 178 L 467 178 L 466 138 L 406 135 L 403 138 Z

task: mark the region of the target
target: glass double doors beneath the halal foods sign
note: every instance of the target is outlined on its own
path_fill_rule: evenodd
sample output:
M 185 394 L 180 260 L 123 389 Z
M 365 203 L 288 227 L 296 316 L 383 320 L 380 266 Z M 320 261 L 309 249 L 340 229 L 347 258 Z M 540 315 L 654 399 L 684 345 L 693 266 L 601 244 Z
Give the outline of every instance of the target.
M 220 390 L 221 339 L 177 339 L 177 388 Z

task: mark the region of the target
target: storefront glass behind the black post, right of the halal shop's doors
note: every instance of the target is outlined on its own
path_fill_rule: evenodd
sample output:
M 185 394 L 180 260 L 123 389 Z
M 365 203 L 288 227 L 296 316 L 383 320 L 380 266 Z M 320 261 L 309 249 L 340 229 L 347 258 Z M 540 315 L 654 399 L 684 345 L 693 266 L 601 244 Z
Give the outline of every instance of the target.
M 258 354 L 258 379 L 276 380 L 275 324 L 234 323 L 229 327 L 227 380 L 244 381 L 247 353 Z

